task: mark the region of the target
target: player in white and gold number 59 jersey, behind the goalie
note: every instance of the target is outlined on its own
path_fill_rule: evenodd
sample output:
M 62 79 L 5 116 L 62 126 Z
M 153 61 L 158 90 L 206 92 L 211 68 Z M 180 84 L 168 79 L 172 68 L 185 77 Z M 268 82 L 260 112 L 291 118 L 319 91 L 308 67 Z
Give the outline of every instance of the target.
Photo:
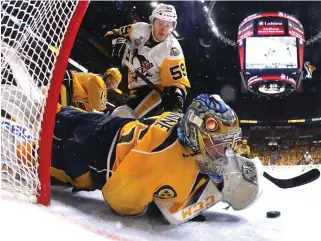
M 117 113 L 134 110 L 138 118 L 162 111 L 181 112 L 190 82 L 185 58 L 178 40 L 171 34 L 177 25 L 172 5 L 159 4 L 150 16 L 150 23 L 138 22 L 105 34 L 112 40 L 114 64 L 120 65 L 126 48 L 129 62 L 162 91 L 162 97 L 151 89 L 133 70 L 129 70 L 130 99 Z M 127 51 L 125 53 L 125 56 Z M 123 115 L 124 116 L 124 115 Z

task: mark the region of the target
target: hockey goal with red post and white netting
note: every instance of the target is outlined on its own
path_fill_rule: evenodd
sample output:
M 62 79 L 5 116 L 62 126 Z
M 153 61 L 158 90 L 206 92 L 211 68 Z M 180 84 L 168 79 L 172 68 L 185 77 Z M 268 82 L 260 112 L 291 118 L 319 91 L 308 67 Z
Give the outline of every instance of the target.
M 1 1 L 1 194 L 48 205 L 54 120 L 88 0 Z

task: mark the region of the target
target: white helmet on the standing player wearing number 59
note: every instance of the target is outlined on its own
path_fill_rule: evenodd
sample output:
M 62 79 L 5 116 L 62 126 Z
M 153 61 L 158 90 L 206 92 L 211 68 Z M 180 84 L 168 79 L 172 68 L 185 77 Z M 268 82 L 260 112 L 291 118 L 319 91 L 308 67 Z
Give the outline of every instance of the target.
M 151 23 L 153 23 L 155 18 L 169 22 L 174 22 L 174 29 L 176 27 L 177 14 L 176 9 L 173 5 L 164 3 L 158 4 L 157 7 L 153 10 L 152 15 L 149 17 Z

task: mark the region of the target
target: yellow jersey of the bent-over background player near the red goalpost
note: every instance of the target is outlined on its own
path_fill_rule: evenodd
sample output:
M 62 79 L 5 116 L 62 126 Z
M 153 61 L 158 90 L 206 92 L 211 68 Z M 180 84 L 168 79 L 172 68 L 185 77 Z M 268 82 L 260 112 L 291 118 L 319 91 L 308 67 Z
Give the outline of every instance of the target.
M 93 73 L 71 71 L 73 78 L 73 105 L 86 111 L 106 109 L 107 89 L 103 79 Z

